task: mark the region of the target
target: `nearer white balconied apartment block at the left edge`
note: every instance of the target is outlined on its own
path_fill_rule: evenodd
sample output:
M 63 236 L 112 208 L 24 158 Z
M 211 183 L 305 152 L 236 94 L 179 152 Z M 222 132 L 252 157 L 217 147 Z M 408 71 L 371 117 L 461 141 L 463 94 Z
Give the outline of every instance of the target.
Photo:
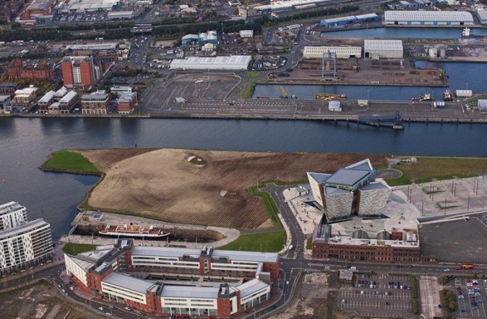
M 0 270 L 10 272 L 47 260 L 52 253 L 51 226 L 35 219 L 0 232 Z

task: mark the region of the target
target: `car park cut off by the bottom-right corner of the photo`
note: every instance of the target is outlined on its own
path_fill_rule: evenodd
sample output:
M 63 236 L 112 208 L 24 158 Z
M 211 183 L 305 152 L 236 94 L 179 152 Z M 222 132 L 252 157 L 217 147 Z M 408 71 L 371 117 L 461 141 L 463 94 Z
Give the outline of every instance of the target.
M 487 280 L 455 278 L 446 287 L 456 291 L 456 311 L 452 318 L 487 318 Z

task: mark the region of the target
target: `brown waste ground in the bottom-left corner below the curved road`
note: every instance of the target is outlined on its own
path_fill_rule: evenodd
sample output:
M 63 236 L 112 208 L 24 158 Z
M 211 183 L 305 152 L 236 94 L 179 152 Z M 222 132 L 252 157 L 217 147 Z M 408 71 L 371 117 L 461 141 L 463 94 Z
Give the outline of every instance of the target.
M 95 313 L 66 302 L 61 293 L 47 283 L 0 294 L 0 313 L 1 318 L 97 318 Z

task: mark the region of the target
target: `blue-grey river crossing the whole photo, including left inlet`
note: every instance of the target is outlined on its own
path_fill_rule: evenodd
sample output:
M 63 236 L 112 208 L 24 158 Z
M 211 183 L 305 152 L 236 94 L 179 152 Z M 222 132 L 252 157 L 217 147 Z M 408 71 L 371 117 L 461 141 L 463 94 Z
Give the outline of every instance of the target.
M 55 238 L 67 233 L 93 176 L 45 173 L 63 148 L 199 148 L 280 152 L 487 156 L 484 125 L 406 124 L 404 131 L 290 120 L 0 118 L 0 201 L 44 216 Z M 5 180 L 5 182 L 3 182 Z

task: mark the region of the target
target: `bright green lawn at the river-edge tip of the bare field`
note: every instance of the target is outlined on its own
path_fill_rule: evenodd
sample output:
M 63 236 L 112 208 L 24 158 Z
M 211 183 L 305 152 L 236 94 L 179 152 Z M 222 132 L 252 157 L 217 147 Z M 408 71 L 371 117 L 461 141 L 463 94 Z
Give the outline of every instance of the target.
M 97 167 L 86 157 L 70 150 L 58 150 L 52 153 L 49 160 L 42 164 L 42 169 L 72 173 L 99 173 Z

